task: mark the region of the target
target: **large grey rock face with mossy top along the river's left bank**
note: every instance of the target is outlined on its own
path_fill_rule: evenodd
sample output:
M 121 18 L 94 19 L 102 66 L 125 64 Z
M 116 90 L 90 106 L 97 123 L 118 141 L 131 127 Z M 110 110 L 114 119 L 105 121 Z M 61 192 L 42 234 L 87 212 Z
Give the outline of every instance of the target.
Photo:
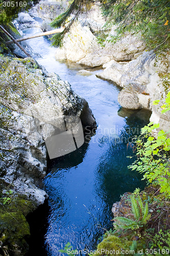
M 3 179 L 41 204 L 47 197 L 38 187 L 46 171 L 44 140 L 61 129 L 64 115 L 77 115 L 90 127 L 96 123 L 86 100 L 58 75 L 44 73 L 34 59 L 1 56 L 0 66 Z

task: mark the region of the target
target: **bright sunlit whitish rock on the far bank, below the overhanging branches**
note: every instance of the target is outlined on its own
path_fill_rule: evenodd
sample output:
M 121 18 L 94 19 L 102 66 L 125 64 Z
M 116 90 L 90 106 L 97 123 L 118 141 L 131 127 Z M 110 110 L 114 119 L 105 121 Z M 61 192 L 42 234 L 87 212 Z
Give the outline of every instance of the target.
M 56 51 L 57 60 L 67 59 L 90 67 L 99 67 L 110 60 L 131 60 L 136 53 L 144 49 L 144 44 L 139 37 L 131 35 L 127 35 L 114 45 L 107 41 L 105 47 L 102 47 L 90 28 L 81 24 L 75 23 L 66 33 L 63 46 Z M 113 31 L 108 37 L 111 34 Z

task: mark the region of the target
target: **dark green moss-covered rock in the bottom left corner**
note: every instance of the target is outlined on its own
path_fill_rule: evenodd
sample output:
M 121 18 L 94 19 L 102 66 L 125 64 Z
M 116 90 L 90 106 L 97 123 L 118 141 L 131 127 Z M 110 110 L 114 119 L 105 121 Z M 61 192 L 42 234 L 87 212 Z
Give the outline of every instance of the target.
M 1 182 L 1 191 L 5 184 Z M 26 216 L 29 212 L 35 210 L 36 205 L 28 201 L 26 196 L 15 192 L 6 194 L 0 193 L 0 241 L 3 246 L 8 248 L 8 252 L 15 250 L 16 247 L 22 249 L 24 254 L 28 250 L 28 244 L 25 240 L 30 235 L 29 224 Z M 4 199 L 10 200 L 4 200 Z

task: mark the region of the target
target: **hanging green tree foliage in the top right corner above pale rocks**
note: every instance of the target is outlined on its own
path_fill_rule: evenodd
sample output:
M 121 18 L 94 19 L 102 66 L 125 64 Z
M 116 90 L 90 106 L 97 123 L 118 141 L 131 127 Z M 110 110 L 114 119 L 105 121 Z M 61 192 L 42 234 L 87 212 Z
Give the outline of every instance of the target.
M 103 0 L 102 10 L 106 27 L 118 25 L 112 41 L 128 32 L 140 32 L 149 48 L 169 48 L 169 0 Z

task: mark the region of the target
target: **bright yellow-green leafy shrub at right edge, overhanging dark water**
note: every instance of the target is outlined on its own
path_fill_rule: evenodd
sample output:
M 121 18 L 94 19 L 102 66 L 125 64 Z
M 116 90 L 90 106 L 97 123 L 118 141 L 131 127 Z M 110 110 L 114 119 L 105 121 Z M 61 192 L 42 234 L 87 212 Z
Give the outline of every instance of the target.
M 170 150 L 170 139 L 167 137 L 168 133 L 163 130 L 159 131 L 155 139 L 152 131 L 158 127 L 159 124 L 150 122 L 141 129 L 141 136 L 136 145 L 138 159 L 129 168 L 143 174 L 143 179 L 147 179 L 149 183 L 159 184 L 160 192 L 170 198 L 169 163 L 165 153 Z M 143 142 L 143 139 L 147 141 Z

